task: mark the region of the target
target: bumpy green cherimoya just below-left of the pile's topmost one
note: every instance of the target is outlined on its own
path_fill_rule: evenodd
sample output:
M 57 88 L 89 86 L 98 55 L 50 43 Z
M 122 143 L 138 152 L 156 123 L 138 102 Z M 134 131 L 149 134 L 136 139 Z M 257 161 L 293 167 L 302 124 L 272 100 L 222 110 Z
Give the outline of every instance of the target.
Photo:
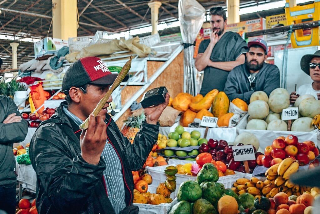
M 201 196 L 201 187 L 195 181 L 185 181 L 182 184 L 180 184 L 177 193 L 178 201 L 194 202 L 201 198 Z

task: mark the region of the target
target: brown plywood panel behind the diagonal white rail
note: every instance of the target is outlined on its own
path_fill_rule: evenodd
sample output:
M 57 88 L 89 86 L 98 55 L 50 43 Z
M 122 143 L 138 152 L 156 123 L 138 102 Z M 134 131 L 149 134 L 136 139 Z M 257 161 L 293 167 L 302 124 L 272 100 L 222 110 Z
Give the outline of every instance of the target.
M 148 79 L 158 70 L 158 68 L 164 64 L 159 61 L 147 62 Z M 148 87 L 148 90 L 157 88 L 159 86 L 165 86 L 172 98 L 177 96 L 178 93 L 183 92 L 183 51 L 168 65 L 168 67 L 158 76 L 158 78 Z M 121 103 L 124 105 L 142 86 L 126 86 L 121 91 Z M 146 92 L 145 91 L 145 92 Z M 145 93 L 144 92 L 144 93 Z M 144 94 L 143 93 L 143 94 Z M 136 100 L 140 102 L 143 94 Z M 121 129 L 124 120 L 131 115 L 130 109 L 128 109 L 117 121 L 116 124 Z

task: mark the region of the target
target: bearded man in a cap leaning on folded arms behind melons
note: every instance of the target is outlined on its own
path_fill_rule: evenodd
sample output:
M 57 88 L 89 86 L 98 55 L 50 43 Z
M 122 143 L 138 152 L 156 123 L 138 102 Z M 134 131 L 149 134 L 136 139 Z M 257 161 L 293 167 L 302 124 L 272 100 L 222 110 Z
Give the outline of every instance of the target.
M 224 88 L 229 100 L 240 98 L 249 104 L 255 91 L 264 91 L 268 96 L 280 85 L 280 72 L 276 65 L 267 64 L 268 46 L 263 39 L 248 42 L 245 63 L 235 67 Z

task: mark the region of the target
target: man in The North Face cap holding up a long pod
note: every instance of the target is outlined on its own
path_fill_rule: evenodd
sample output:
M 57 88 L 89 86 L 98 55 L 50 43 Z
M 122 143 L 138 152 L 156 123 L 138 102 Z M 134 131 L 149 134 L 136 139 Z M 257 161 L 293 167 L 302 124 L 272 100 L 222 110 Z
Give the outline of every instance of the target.
M 142 168 L 157 141 L 157 120 L 170 96 L 144 109 L 146 120 L 131 144 L 107 114 L 112 97 L 98 116 L 91 114 L 116 76 L 98 57 L 81 58 L 67 70 L 67 102 L 40 124 L 30 143 L 38 213 L 138 213 L 131 171 Z M 88 117 L 89 127 L 81 132 Z

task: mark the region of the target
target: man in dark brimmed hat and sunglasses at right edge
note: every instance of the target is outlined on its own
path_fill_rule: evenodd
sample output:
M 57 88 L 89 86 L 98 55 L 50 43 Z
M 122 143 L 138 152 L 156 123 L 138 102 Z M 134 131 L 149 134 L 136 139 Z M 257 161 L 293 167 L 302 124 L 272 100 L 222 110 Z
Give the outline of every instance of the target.
M 300 61 L 301 70 L 311 77 L 313 82 L 301 85 L 297 91 L 293 91 L 290 95 L 290 103 L 294 104 L 296 99 L 305 94 L 311 94 L 315 99 L 320 99 L 320 50 L 314 54 L 302 56 Z

